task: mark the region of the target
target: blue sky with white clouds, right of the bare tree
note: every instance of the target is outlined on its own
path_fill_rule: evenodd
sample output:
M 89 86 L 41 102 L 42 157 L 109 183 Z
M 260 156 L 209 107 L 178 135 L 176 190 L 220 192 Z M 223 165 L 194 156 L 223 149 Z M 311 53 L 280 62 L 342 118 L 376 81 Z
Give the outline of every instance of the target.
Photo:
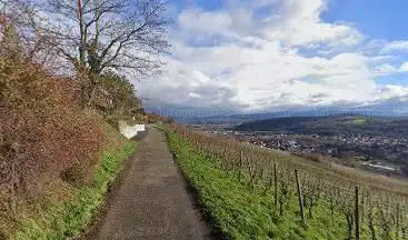
M 150 103 L 277 111 L 408 101 L 408 1 L 170 0 Z M 168 99 L 171 99 L 169 101 Z

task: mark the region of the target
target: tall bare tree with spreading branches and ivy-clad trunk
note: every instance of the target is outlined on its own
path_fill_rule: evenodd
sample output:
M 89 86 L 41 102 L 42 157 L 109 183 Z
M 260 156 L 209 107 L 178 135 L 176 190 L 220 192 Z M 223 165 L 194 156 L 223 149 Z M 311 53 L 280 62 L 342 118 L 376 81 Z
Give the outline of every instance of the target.
M 52 39 L 77 70 L 86 73 L 86 101 L 92 101 L 96 76 L 108 70 L 147 74 L 162 64 L 168 50 L 163 0 L 44 0 L 48 21 L 42 34 Z

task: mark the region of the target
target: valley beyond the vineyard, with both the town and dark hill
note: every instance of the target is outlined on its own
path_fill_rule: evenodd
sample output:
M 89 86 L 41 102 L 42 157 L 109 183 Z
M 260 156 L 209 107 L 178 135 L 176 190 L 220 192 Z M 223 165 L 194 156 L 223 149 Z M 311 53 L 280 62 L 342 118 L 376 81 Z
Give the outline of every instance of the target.
M 406 178 L 407 122 L 406 119 L 362 116 L 287 117 L 196 128 L 315 161 Z

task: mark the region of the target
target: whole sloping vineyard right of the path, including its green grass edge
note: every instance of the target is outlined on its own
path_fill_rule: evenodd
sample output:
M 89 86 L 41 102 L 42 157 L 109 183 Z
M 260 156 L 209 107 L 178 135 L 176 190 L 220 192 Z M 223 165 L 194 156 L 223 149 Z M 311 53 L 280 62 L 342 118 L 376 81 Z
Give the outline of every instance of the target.
M 227 237 L 279 239 L 277 232 L 283 228 L 282 222 L 291 221 L 288 224 L 295 222 L 300 229 L 293 227 L 293 236 L 281 239 L 408 239 L 407 182 L 287 156 L 180 126 L 169 129 L 170 147 L 182 171 L 201 192 L 201 201 Z M 201 184 L 207 173 L 199 172 L 197 166 L 208 171 L 213 169 L 216 176 L 231 186 L 222 190 L 225 193 L 209 197 L 215 183 L 211 188 Z M 262 211 L 258 214 L 267 218 L 260 220 L 256 209 L 247 209 L 252 208 L 252 200 L 248 206 L 242 202 L 245 209 L 232 211 L 235 207 L 226 203 L 229 197 L 233 198 L 232 193 L 226 196 L 228 190 L 242 196 L 249 191 L 250 198 L 260 199 L 258 206 Z M 223 201 L 217 207 L 211 198 Z M 233 204 L 238 206 L 239 200 Z M 239 218 L 246 209 L 250 212 L 247 219 L 240 222 L 226 219 L 226 216 Z

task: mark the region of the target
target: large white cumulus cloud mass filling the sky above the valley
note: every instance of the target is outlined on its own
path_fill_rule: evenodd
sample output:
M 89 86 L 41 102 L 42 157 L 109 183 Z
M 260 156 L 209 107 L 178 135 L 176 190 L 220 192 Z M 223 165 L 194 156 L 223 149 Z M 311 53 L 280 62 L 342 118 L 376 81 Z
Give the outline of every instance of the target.
M 352 24 L 324 22 L 327 8 L 325 0 L 256 0 L 218 10 L 183 9 L 167 70 L 141 83 L 140 92 L 158 104 L 239 111 L 407 96 L 407 88 L 380 86 L 375 78 L 408 71 L 408 62 L 396 67 L 387 62 L 389 56 L 361 51 L 364 34 Z

